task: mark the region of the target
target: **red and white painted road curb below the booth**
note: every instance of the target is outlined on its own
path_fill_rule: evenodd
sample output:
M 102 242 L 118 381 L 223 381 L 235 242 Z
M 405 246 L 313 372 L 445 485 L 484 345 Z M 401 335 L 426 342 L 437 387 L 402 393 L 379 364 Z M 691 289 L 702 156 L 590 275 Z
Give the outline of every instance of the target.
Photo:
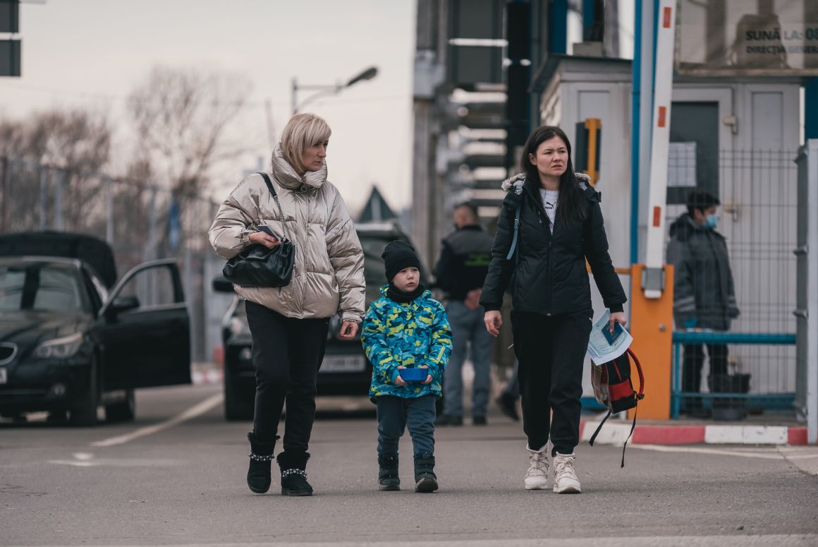
M 600 420 L 583 420 L 580 439 L 590 441 Z M 602 427 L 595 443 L 622 445 L 631 423 Z M 807 427 L 759 425 L 636 425 L 629 441 L 634 445 L 806 445 Z

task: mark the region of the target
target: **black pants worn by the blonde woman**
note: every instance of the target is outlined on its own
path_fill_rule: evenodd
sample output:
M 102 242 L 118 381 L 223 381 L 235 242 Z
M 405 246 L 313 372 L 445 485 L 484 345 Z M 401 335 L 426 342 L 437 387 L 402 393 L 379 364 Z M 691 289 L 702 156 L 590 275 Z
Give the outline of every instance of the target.
M 275 435 L 286 404 L 284 450 L 306 452 L 330 319 L 291 319 L 250 301 L 245 309 L 256 370 L 253 428 Z

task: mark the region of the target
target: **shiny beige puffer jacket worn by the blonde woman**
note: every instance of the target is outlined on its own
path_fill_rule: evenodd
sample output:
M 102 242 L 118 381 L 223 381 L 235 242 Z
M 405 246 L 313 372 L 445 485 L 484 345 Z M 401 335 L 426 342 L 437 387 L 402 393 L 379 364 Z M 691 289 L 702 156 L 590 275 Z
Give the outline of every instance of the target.
M 295 268 L 289 285 L 281 288 L 235 286 L 247 300 L 296 319 L 363 319 L 363 251 L 352 219 L 338 189 L 326 180 L 326 162 L 303 177 L 295 172 L 276 146 L 272 153 L 276 188 L 287 228 L 295 242 Z M 224 259 L 249 245 L 247 237 L 258 224 L 284 236 L 278 208 L 259 174 L 242 180 L 219 207 L 209 230 L 210 244 Z

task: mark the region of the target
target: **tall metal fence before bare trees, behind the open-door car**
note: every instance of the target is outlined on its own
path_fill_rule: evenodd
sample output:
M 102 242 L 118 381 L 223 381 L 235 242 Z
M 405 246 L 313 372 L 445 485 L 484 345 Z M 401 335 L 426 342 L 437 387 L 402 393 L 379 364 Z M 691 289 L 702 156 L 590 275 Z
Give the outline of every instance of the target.
M 140 180 L 9 157 L 0 157 L 0 192 L 0 233 L 55 230 L 100 237 L 113 247 L 120 277 L 145 260 L 178 260 L 191 315 L 191 357 L 210 358 L 205 270 L 215 258 L 207 230 L 217 203 L 174 197 Z

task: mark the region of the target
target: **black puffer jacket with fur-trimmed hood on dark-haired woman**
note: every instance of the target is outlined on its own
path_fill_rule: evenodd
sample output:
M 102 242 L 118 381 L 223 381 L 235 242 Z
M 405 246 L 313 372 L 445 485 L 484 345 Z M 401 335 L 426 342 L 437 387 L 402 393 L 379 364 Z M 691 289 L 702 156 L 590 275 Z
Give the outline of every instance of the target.
M 587 215 L 568 225 L 548 228 L 539 189 L 519 174 L 503 183 L 506 199 L 497 220 L 492 261 L 480 304 L 485 310 L 499 310 L 512 273 L 512 307 L 517 311 L 545 315 L 591 311 L 591 285 L 585 260 L 591 264 L 596 286 L 605 306 L 622 311 L 627 301 L 622 283 L 608 254 L 608 238 L 600 209 L 601 196 L 587 185 L 587 177 L 577 174 L 577 192 L 586 198 Z M 516 256 L 506 260 L 514 237 L 515 211 L 521 203 Z

